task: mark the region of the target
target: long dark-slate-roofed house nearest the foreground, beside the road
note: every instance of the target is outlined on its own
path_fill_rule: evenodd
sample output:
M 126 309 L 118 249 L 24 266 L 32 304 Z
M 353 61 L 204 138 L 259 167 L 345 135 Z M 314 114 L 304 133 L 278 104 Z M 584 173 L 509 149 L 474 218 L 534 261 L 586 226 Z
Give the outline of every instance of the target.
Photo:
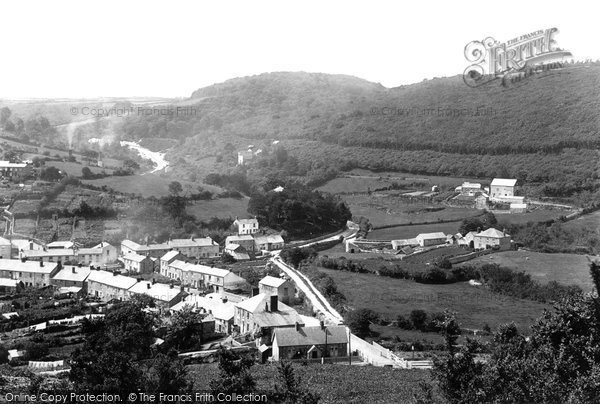
M 273 331 L 273 360 L 340 358 L 348 356 L 344 326 L 277 328 Z

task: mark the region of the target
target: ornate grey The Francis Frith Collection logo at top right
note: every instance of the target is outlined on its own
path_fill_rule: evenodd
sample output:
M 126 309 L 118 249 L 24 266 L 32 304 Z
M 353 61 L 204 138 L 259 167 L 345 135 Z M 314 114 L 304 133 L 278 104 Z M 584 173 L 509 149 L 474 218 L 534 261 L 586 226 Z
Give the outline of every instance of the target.
M 492 37 L 469 42 L 465 57 L 472 64 L 463 73 L 464 82 L 477 87 L 502 79 L 502 85 L 507 86 L 531 74 L 562 67 L 562 62 L 572 55 L 556 46 L 557 32 L 556 28 L 539 30 L 505 43 Z

